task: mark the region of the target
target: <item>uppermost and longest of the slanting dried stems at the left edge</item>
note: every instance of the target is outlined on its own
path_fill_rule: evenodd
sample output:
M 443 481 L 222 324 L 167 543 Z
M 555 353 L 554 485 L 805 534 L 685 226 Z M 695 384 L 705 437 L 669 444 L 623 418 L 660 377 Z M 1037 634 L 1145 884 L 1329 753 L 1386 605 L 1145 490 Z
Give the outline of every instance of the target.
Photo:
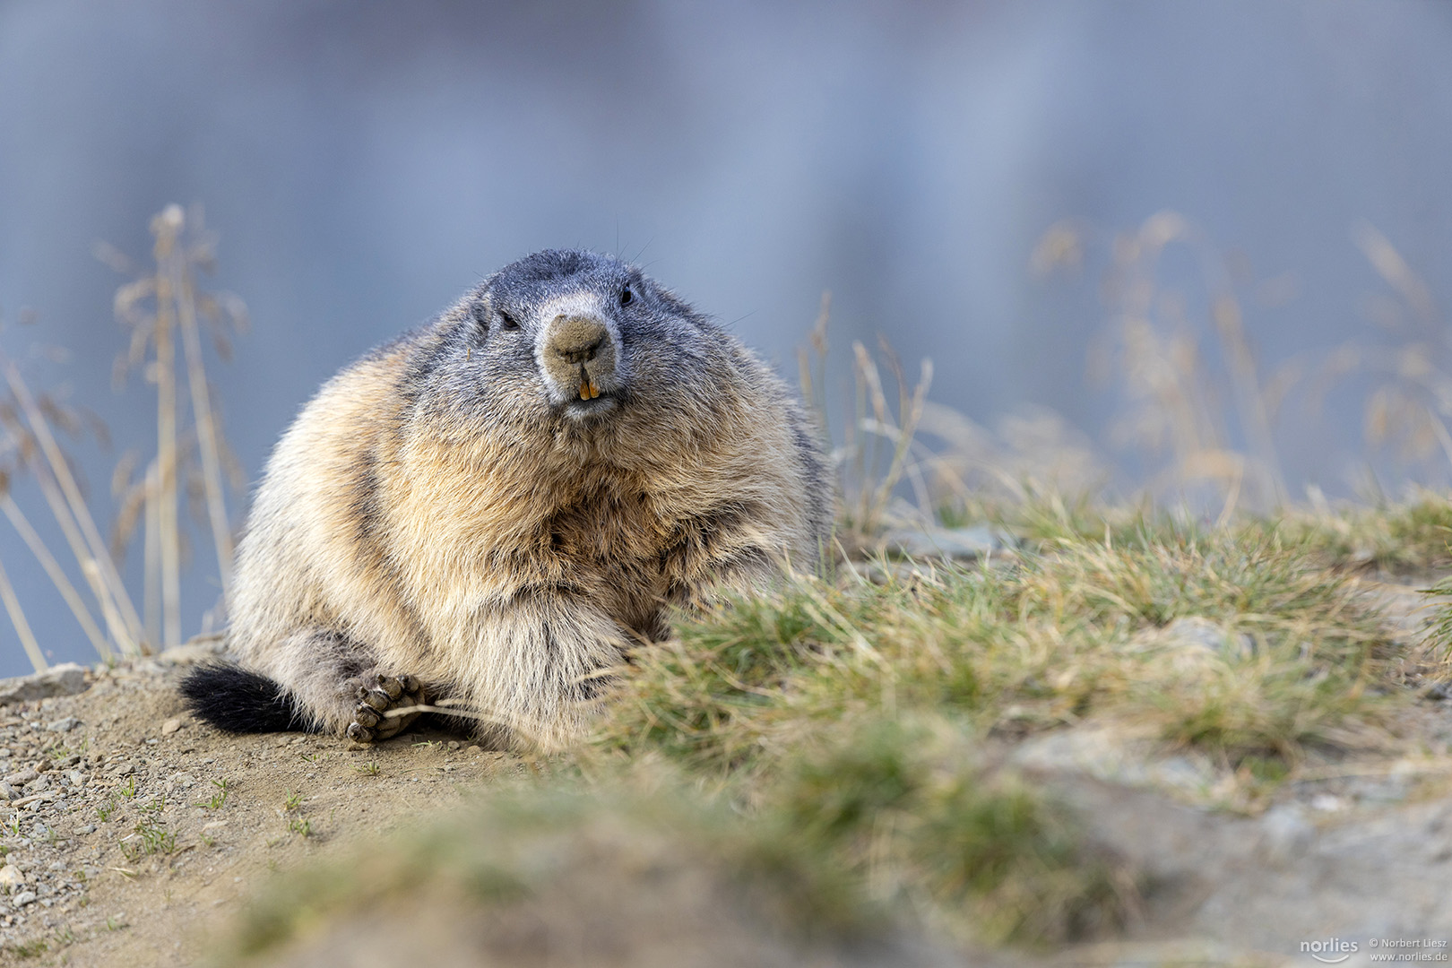
M 100 531 L 96 528 L 96 521 L 91 518 L 90 509 L 86 506 L 86 499 L 76 485 L 76 477 L 65 463 L 65 454 L 61 453 L 61 447 L 55 443 L 55 435 L 51 432 L 45 414 L 41 412 L 25 380 L 20 379 L 20 372 L 10 360 L 4 360 L 4 374 L 10 390 L 20 403 L 20 409 L 25 411 L 35 440 L 41 444 L 41 453 L 45 454 L 45 460 L 55 475 L 55 480 L 48 482 L 46 475 L 36 473 L 41 488 L 51 502 L 51 511 L 61 524 L 61 530 L 67 533 L 67 540 L 71 543 L 71 550 L 76 553 L 83 570 L 87 562 L 94 563 L 99 581 L 93 582 L 91 588 L 102 605 L 102 611 L 110 614 L 115 610 L 119 615 L 119 621 L 112 624 L 112 636 L 116 639 L 116 644 L 122 652 L 139 655 L 141 618 L 136 615 L 136 610 L 131 604 L 131 596 L 126 594 L 126 586 L 122 583 L 121 575 L 116 572 L 116 566 L 106 551 L 106 541 L 102 540 Z M 57 495 L 52 493 L 52 488 L 57 485 L 65 496 L 64 501 L 58 501 Z M 78 540 L 78 536 L 73 534 L 73 528 L 77 527 L 86 538 L 84 543 Z M 84 550 L 87 546 L 90 549 L 89 554 Z

